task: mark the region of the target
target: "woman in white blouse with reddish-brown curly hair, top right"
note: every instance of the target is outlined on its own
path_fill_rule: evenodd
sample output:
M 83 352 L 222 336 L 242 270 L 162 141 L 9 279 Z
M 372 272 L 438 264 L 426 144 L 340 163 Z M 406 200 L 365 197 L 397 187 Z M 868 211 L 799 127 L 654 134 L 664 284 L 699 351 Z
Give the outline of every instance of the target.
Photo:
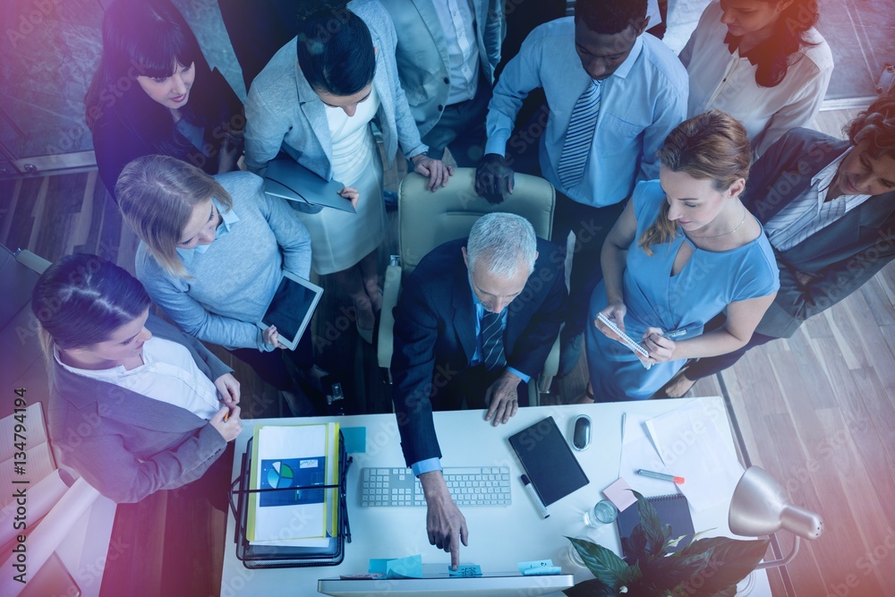
M 754 159 L 789 129 L 810 128 L 833 70 L 817 16 L 817 0 L 709 4 L 680 53 L 687 116 L 727 112 L 746 127 Z

